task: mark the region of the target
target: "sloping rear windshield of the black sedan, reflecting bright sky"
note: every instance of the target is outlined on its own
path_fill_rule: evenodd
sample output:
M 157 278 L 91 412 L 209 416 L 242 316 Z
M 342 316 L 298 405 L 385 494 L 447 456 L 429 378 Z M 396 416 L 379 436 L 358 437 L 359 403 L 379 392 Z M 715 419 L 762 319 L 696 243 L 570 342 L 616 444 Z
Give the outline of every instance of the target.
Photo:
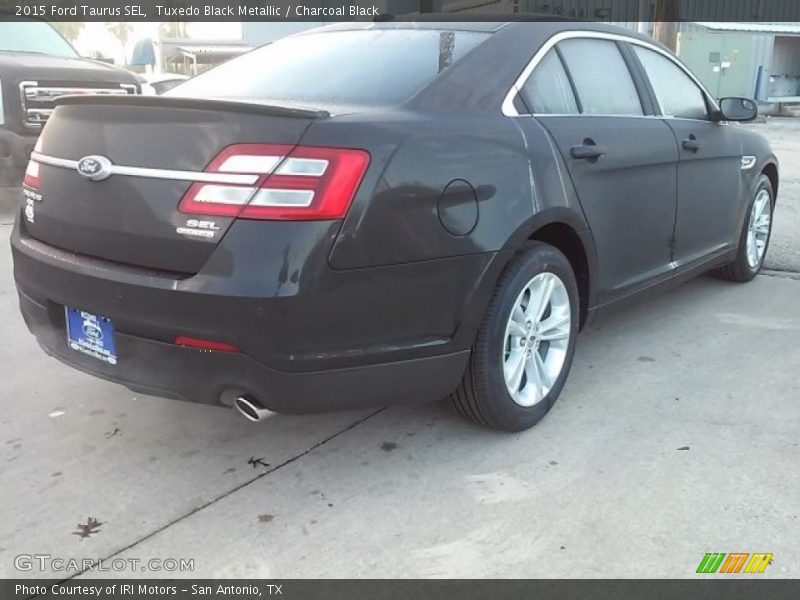
M 307 33 L 235 58 L 165 95 L 317 107 L 399 105 L 488 36 L 407 29 Z

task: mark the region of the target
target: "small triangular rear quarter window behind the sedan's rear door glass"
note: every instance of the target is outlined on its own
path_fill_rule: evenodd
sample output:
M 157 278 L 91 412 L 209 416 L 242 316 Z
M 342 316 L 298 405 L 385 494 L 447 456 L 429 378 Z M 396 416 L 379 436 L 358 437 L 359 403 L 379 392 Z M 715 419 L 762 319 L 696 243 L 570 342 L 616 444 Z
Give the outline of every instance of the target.
M 578 104 L 564 65 L 555 50 L 550 50 L 528 77 L 521 90 L 522 100 L 532 113 L 576 115 Z

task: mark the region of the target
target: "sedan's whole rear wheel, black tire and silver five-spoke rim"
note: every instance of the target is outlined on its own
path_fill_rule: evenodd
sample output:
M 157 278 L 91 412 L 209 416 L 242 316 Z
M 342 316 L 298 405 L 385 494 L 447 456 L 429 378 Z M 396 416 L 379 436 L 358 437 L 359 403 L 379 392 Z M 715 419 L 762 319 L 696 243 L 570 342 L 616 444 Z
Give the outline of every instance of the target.
M 536 242 L 501 276 L 453 404 L 493 429 L 534 426 L 564 387 L 577 333 L 572 267 L 558 249 Z

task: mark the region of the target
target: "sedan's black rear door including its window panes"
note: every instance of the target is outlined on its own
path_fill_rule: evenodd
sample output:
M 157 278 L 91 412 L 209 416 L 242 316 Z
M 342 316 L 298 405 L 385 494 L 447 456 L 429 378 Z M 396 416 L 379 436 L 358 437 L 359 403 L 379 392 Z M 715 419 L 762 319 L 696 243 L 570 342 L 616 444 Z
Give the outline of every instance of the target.
M 670 128 L 652 117 L 617 42 L 560 42 L 522 96 L 572 176 L 597 246 L 598 301 L 669 278 L 677 147 Z

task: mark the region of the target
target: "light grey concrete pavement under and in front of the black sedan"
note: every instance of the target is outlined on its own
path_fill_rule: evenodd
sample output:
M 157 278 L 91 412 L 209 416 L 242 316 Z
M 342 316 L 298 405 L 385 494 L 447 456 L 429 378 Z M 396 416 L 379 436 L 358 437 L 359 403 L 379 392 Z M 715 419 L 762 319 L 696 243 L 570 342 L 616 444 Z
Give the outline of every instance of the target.
M 74 574 L 15 569 L 35 553 L 194 560 L 120 576 L 689 577 L 710 551 L 800 576 L 800 281 L 702 278 L 602 322 L 527 433 L 442 404 L 254 425 L 47 358 L 0 248 L 2 577 Z

